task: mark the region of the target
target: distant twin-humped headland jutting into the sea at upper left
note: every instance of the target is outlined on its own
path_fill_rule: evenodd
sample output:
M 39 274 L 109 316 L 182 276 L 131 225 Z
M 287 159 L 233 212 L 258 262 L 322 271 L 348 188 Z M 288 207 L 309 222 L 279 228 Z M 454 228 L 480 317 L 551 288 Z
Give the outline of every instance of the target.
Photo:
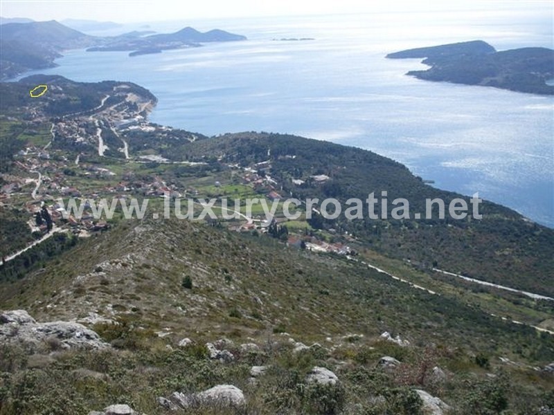
M 107 50 L 132 50 L 129 56 L 144 55 L 146 53 L 159 53 L 161 50 L 190 48 L 200 46 L 206 42 L 233 42 L 245 40 L 242 35 L 235 35 L 224 30 L 214 29 L 206 33 L 190 27 L 181 29 L 175 33 L 159 33 L 146 37 L 132 37 L 121 35 L 115 37 L 112 42 L 102 46 L 89 48 L 90 52 Z

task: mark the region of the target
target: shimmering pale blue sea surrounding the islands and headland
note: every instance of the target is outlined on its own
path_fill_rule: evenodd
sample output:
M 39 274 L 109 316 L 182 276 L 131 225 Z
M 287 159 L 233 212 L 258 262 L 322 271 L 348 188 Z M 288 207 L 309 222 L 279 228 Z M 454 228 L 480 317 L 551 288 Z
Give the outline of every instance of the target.
M 552 48 L 552 8 L 546 3 L 535 10 L 454 15 L 150 24 L 161 32 L 217 27 L 249 40 L 138 57 L 72 50 L 56 61 L 59 67 L 42 73 L 136 82 L 159 98 L 153 122 L 206 135 L 274 131 L 369 149 L 437 187 L 479 192 L 553 227 L 554 98 L 415 80 L 404 73 L 424 67 L 418 59 L 384 58 L 471 39 L 499 50 Z M 272 40 L 283 37 L 314 40 Z

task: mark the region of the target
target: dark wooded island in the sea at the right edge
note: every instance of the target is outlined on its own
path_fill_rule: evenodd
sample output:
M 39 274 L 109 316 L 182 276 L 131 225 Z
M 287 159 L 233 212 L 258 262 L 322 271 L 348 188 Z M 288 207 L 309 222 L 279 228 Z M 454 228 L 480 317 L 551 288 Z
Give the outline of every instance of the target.
M 554 50 L 518 48 L 497 51 L 482 40 L 402 50 L 389 59 L 425 58 L 425 71 L 409 71 L 420 80 L 494 86 L 510 91 L 554 95 Z

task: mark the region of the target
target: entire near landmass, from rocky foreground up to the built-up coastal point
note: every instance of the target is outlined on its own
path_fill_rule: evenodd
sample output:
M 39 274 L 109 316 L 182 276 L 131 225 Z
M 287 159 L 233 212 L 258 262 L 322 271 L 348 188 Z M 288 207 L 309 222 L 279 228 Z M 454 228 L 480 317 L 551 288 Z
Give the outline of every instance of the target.
M 355 147 L 150 123 L 156 98 L 130 82 L 0 93 L 0 415 L 554 408 L 554 230 L 487 201 L 481 220 L 415 219 L 470 198 Z M 382 219 L 285 215 L 287 196 L 383 191 L 409 218 L 382 199 Z M 102 199 L 112 216 L 94 216 Z M 177 216 L 207 201 L 215 218 Z

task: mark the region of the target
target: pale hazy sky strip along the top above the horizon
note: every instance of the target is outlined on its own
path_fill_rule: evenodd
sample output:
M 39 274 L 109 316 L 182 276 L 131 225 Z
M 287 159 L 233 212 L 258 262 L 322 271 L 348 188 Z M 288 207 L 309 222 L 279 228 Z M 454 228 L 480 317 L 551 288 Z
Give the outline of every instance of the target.
M 544 8 L 550 0 L 0 0 L 0 16 L 34 20 L 162 21 L 378 11 Z M 547 6 L 548 7 L 548 6 Z M 552 9 L 547 12 L 552 13 Z

